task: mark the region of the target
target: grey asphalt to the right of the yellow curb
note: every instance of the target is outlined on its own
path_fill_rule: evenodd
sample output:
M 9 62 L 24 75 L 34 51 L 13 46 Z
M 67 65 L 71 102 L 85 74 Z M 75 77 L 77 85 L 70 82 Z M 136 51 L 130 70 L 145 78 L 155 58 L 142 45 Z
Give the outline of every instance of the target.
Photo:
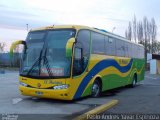
M 145 80 L 137 87 L 121 88 L 106 96 L 119 100 L 118 105 L 106 111 L 106 114 L 160 114 L 160 76 L 147 72 Z

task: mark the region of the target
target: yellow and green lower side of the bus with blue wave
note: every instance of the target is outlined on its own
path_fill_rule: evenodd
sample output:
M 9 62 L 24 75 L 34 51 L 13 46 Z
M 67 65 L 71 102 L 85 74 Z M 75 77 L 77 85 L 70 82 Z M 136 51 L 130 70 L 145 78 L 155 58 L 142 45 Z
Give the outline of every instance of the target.
M 75 95 L 73 99 L 91 94 L 92 84 L 96 76 L 101 76 L 102 91 L 125 86 L 132 83 L 133 75 L 137 72 L 138 80 L 144 78 L 144 60 L 114 57 L 106 55 L 92 55 L 88 72 L 77 77 L 74 84 Z

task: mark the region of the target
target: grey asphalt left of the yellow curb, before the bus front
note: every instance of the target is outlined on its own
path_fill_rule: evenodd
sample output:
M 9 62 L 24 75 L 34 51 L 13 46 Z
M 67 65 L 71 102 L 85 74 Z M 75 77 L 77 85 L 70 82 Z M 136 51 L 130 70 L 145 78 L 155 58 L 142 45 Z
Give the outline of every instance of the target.
M 0 74 L 0 114 L 33 114 L 30 118 L 38 119 L 70 119 L 87 112 L 96 106 L 110 102 L 111 99 L 85 98 L 73 102 L 64 102 L 51 99 L 40 99 L 22 96 L 18 90 L 18 72 L 6 71 Z M 43 114 L 43 115 L 42 115 Z M 45 116 L 44 114 L 52 114 Z M 28 120 L 29 116 L 20 115 L 19 118 Z M 1 119 L 1 116 L 0 116 Z

